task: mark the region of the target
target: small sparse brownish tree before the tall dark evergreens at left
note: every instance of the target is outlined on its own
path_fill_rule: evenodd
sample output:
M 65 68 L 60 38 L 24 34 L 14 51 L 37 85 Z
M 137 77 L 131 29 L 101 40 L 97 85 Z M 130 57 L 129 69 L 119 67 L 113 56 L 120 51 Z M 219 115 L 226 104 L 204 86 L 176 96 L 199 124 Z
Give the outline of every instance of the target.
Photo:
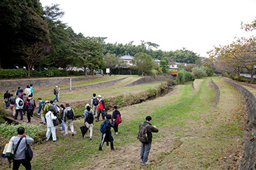
M 36 42 L 34 45 L 25 47 L 24 56 L 22 56 L 22 59 L 24 59 L 24 61 L 27 63 L 28 78 L 30 78 L 30 70 L 32 66 L 39 61 L 43 61 L 45 58 L 44 54 L 49 51 L 50 46 L 45 42 Z

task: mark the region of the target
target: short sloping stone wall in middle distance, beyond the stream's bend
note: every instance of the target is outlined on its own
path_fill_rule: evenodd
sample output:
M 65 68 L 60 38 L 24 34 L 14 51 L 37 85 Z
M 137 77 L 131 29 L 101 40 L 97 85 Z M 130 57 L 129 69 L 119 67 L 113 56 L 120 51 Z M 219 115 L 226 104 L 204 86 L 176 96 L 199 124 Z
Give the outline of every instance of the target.
M 136 86 L 138 84 L 147 84 L 152 82 L 164 82 L 166 81 L 166 79 L 174 79 L 174 77 L 172 75 L 147 76 L 147 77 L 142 77 L 141 79 L 138 79 L 135 82 L 131 82 L 126 86 Z

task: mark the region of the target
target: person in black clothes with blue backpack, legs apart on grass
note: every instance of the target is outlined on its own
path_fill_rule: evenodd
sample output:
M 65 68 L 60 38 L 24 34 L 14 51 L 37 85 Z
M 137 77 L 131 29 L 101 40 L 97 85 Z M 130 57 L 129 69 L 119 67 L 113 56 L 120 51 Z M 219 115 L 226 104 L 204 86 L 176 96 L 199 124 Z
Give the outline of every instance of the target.
M 111 114 L 107 114 L 106 118 L 107 118 L 106 121 L 104 121 L 104 123 L 101 123 L 102 138 L 101 138 L 101 144 L 99 144 L 99 150 L 102 150 L 102 146 L 105 141 L 107 143 L 107 146 L 108 146 L 108 142 L 111 142 L 111 150 L 116 150 L 114 148 L 114 139 L 111 135 L 111 127 L 114 127 L 115 120 L 112 122 L 109 121 L 111 120 Z

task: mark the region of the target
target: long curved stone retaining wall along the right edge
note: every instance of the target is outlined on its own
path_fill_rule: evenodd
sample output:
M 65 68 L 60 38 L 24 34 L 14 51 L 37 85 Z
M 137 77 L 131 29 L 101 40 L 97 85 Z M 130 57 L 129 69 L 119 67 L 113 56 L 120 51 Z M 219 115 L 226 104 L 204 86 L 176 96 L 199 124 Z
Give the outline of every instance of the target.
M 256 113 L 255 113 L 255 104 L 256 98 L 253 93 L 250 93 L 246 88 L 243 86 L 236 84 L 234 82 L 228 81 L 224 79 L 225 82 L 231 84 L 235 88 L 239 89 L 239 91 L 243 94 L 243 98 L 246 100 L 246 109 L 248 114 L 248 126 L 253 128 L 252 137 L 247 139 L 244 153 L 243 153 L 243 160 L 241 163 L 241 169 L 256 169 L 256 140 L 255 140 L 255 125 L 256 125 Z M 245 132 L 246 133 L 246 132 Z

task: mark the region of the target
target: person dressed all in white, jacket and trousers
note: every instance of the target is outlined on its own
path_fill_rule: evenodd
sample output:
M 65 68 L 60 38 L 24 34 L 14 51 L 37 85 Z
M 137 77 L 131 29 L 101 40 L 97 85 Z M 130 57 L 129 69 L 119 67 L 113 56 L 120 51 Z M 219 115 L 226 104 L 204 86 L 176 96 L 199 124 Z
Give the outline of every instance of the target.
M 45 114 L 46 124 L 47 124 L 47 132 L 45 134 L 46 141 L 50 139 L 50 132 L 52 132 L 52 141 L 57 141 L 56 139 L 56 129 L 53 125 L 53 120 L 56 120 L 56 116 L 53 115 L 54 109 L 50 109 L 47 114 Z

